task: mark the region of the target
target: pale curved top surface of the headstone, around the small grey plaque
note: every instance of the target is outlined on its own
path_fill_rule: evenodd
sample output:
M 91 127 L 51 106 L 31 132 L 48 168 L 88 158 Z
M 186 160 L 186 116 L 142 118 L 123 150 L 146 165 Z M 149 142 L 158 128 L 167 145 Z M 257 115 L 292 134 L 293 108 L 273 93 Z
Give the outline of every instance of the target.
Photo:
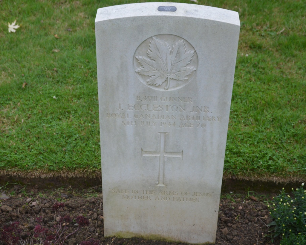
M 176 11 L 159 11 L 159 6 L 175 6 Z M 211 6 L 176 2 L 129 3 L 99 8 L 95 23 L 137 16 L 175 16 L 208 19 L 240 26 L 238 12 Z

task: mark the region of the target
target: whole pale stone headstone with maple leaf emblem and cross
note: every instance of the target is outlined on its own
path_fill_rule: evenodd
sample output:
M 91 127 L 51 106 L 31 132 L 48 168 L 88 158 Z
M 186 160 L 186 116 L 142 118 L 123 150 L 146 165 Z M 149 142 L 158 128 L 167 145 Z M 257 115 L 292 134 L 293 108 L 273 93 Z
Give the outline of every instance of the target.
M 105 236 L 215 242 L 239 30 L 195 4 L 98 10 Z

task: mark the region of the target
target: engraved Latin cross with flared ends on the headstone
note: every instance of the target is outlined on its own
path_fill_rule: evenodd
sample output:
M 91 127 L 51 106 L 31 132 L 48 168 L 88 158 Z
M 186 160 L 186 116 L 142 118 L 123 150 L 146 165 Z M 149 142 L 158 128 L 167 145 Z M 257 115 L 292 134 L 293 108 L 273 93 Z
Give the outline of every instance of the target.
M 183 150 L 181 152 L 166 152 L 165 151 L 165 136 L 167 133 L 158 132 L 159 133 L 159 151 L 144 151 L 141 148 L 141 156 L 159 156 L 159 174 L 158 174 L 158 185 L 157 186 L 165 186 L 164 185 L 164 167 L 165 167 L 165 157 L 180 157 L 183 159 Z

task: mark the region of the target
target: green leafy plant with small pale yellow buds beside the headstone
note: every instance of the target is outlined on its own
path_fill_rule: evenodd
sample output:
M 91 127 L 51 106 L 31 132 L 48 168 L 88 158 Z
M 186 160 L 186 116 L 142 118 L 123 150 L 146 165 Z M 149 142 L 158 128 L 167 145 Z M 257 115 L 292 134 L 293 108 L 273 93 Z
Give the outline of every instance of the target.
M 282 236 L 290 240 L 292 236 L 306 236 L 306 190 L 303 186 L 304 183 L 301 188 L 292 188 L 293 197 L 285 193 L 283 188 L 281 194 L 268 205 L 273 218 L 268 224 L 272 237 Z

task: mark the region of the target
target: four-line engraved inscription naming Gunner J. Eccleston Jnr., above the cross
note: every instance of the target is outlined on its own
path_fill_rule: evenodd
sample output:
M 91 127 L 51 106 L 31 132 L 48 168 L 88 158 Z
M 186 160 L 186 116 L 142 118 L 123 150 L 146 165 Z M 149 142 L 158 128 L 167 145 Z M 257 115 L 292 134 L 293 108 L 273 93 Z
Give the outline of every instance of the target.
M 114 111 L 106 112 L 106 118 L 120 120 L 121 126 L 175 127 L 206 130 L 207 124 L 217 126 L 222 116 L 213 113 L 207 105 L 194 105 L 188 96 L 136 95 L 134 103 L 118 103 Z

